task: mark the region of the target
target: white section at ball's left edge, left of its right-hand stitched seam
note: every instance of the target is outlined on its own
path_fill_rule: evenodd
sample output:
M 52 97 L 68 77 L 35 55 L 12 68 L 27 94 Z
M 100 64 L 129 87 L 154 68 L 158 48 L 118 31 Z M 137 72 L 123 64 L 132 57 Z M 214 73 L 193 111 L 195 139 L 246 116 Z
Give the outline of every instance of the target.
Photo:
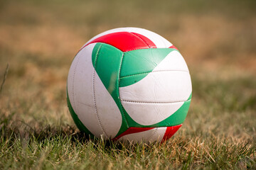
M 78 118 L 93 135 L 100 137 L 102 128 L 95 114 L 92 80 L 92 50 L 95 44 L 88 45 L 78 52 L 68 73 L 68 95 Z

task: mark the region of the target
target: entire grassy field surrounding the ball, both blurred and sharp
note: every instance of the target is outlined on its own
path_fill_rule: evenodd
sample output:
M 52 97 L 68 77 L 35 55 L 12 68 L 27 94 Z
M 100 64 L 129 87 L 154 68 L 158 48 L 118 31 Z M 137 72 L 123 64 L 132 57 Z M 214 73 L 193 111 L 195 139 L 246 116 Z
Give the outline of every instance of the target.
M 0 169 L 256 169 L 255 18 L 255 1 L 0 1 Z M 68 112 L 73 56 L 121 26 L 163 35 L 190 69 L 191 108 L 163 144 L 89 140 Z

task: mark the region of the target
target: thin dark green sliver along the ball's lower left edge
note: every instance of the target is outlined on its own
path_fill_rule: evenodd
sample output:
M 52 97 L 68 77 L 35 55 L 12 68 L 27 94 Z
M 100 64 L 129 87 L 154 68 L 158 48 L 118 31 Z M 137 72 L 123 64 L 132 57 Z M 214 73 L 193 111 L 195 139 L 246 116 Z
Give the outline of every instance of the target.
M 81 120 L 78 118 L 78 115 L 75 113 L 73 110 L 73 107 L 71 106 L 70 99 L 68 97 L 68 87 L 67 87 L 67 103 L 68 103 L 68 110 L 70 111 L 70 114 L 75 122 L 75 125 L 77 125 L 78 129 L 81 130 L 82 132 L 85 132 L 87 135 L 90 137 L 94 137 L 92 135 L 92 132 L 90 132 L 85 125 L 81 122 Z

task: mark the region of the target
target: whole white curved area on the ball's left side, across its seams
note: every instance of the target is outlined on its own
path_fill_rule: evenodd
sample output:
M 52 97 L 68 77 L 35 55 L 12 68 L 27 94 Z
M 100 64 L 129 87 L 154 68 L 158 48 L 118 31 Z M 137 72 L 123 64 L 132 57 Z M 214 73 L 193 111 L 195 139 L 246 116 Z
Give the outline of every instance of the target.
M 75 56 L 68 74 L 68 95 L 78 118 L 93 135 L 114 137 L 122 115 L 92 66 L 93 47 L 95 43 Z

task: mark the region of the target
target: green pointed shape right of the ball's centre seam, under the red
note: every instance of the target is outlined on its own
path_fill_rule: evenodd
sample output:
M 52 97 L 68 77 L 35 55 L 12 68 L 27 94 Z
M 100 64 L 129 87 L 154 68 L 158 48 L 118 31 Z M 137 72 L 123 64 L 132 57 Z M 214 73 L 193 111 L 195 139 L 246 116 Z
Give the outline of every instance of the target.
M 126 52 L 120 72 L 120 87 L 132 85 L 152 72 L 175 49 L 149 48 Z

